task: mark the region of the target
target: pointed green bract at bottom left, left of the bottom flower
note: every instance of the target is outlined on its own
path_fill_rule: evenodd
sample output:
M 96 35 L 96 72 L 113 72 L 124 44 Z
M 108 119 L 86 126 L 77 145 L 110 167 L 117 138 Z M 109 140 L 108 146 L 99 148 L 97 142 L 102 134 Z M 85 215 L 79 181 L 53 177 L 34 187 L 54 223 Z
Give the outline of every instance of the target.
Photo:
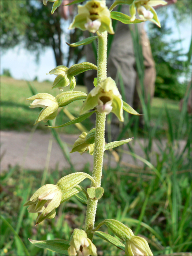
M 52 252 L 57 252 L 57 253 L 62 253 L 65 255 L 68 255 L 68 248 L 69 248 L 69 241 L 67 240 L 42 240 L 42 241 L 37 241 L 37 240 L 28 240 L 31 242 L 31 244 L 34 244 L 35 246 L 42 248 L 42 249 L 48 249 L 49 251 Z

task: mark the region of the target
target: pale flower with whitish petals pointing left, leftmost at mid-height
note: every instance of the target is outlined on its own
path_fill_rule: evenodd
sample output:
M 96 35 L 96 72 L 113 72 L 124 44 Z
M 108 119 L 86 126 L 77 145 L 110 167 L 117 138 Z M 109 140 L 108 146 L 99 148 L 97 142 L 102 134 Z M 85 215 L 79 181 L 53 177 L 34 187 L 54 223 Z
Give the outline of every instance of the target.
M 48 93 L 38 93 L 27 99 L 28 101 L 33 101 L 30 105 L 30 108 L 44 108 L 39 113 L 35 124 L 39 123 L 42 120 L 53 120 L 57 116 L 57 110 L 59 104 L 56 101 L 55 97 Z

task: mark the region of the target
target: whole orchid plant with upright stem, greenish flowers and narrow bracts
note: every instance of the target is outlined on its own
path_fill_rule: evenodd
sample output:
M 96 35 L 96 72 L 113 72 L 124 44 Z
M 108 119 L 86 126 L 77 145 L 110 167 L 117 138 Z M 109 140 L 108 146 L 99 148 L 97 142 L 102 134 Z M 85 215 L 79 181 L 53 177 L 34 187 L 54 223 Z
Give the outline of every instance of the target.
M 52 9 L 53 14 L 56 8 L 60 6 L 61 1 L 50 2 L 54 2 Z M 80 2 L 83 1 L 73 1 L 68 5 Z M 43 1 L 43 3 L 46 5 L 48 1 Z M 131 16 L 112 11 L 113 8 L 119 4 L 129 5 Z M 125 24 L 140 23 L 150 20 L 160 27 L 161 25 L 157 13 L 153 8 L 159 4 L 165 5 L 166 1 L 114 1 L 109 9 L 106 7 L 106 1 L 99 0 L 91 0 L 87 1 L 84 5 L 78 5 L 78 14 L 75 16 L 69 29 L 78 28 L 88 30 L 89 32 L 97 33 L 97 35 L 68 45 L 78 47 L 80 45 L 90 44 L 97 39 L 97 66 L 87 62 L 75 64 L 69 68 L 63 65 L 58 66 L 49 72 L 49 74 L 57 75 L 53 82 L 52 89 L 59 88 L 59 90 L 62 91 L 62 87 L 69 86 L 69 91 L 60 93 L 57 97 L 53 97 L 47 93 L 38 93 L 27 99 L 33 101 L 30 104 L 30 108 L 43 108 L 35 124 L 40 121 L 53 120 L 57 116 L 59 108 L 77 100 L 84 100 L 80 110 L 80 116 L 59 127 L 80 123 L 91 116 L 91 114 L 96 113 L 95 128 L 89 133 L 83 132 L 75 141 L 70 152 L 78 151 L 80 154 L 83 154 L 89 151 L 89 154 L 93 155 L 92 176 L 82 172 L 71 173 L 61 178 L 56 185 L 47 184 L 39 188 L 33 196 L 31 196 L 30 200 L 24 204 L 24 206 L 29 206 L 29 212 L 37 213 L 36 223 L 38 224 L 46 218 L 54 218 L 56 215 L 55 209 L 72 196 L 76 196 L 82 203 L 87 205 L 84 230 L 75 229 L 70 241 L 30 240 L 34 245 L 65 255 L 97 255 L 97 248 L 92 242 L 93 235 L 96 235 L 125 251 L 125 255 L 153 255 L 147 241 L 142 237 L 135 236 L 133 231 L 123 223 L 114 219 L 105 219 L 99 223 L 97 227 L 94 225 L 98 200 L 101 199 L 104 192 L 101 187 L 103 153 L 105 150 L 128 143 L 133 139 L 130 138 L 106 144 L 106 115 L 112 112 L 121 122 L 124 121 L 123 110 L 131 114 L 139 115 L 139 113 L 122 100 L 115 81 L 107 77 L 107 37 L 108 33 L 114 34 L 112 19 L 119 20 Z M 136 19 L 136 11 L 140 19 Z M 95 88 L 91 90 L 88 95 L 80 91 L 74 91 L 76 85 L 75 76 L 90 69 L 97 70 L 97 78 L 93 81 Z M 85 178 L 89 178 L 91 181 L 90 188 L 88 189 L 84 189 L 79 185 Z M 99 227 L 103 224 L 105 224 L 114 235 L 125 241 L 125 244 L 114 236 L 98 231 Z

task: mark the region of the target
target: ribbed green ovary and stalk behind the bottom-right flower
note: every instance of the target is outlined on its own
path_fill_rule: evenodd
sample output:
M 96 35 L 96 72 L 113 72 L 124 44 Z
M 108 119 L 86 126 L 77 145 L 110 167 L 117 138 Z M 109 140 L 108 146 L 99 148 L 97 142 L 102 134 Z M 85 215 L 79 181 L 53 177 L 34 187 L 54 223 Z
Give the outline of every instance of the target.
M 113 234 L 124 241 L 130 240 L 134 236 L 133 231 L 129 229 L 129 227 L 125 226 L 120 221 L 116 221 L 115 219 L 105 219 L 105 221 L 99 223 L 99 225 L 93 231 L 97 231 L 103 224 L 105 224 L 113 232 Z

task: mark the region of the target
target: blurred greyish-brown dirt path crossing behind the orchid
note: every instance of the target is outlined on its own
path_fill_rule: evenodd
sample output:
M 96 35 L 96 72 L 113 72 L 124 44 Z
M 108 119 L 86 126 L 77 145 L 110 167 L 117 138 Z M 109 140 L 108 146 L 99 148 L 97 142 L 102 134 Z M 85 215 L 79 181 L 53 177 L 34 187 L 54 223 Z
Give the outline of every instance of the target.
M 1 156 L 3 156 L 0 166 L 1 171 L 7 170 L 9 165 L 15 166 L 17 164 L 25 169 L 43 170 L 46 164 L 50 136 L 50 133 L 45 134 L 41 131 L 35 131 L 33 136 L 31 136 L 30 132 L 1 131 Z M 61 135 L 61 139 L 71 145 L 77 138 L 78 135 Z M 130 143 L 132 143 L 132 146 L 134 145 L 135 152 L 139 156 L 144 157 L 139 143 Z M 140 143 L 142 145 L 144 144 L 143 139 L 140 140 Z M 165 140 L 163 144 L 166 144 Z M 184 148 L 185 141 L 181 141 L 180 146 Z M 125 146 L 125 149 L 127 149 L 127 146 Z M 69 150 L 71 150 L 70 147 Z M 155 143 L 153 144 L 153 150 L 158 152 L 158 147 Z M 82 170 L 87 162 L 90 163 L 90 168 L 93 166 L 93 156 L 88 153 L 80 155 L 75 152 L 70 154 L 70 157 L 76 170 Z M 127 154 L 123 154 L 122 161 L 128 164 L 135 164 L 133 158 Z M 104 164 L 107 163 L 107 159 L 105 159 Z M 142 166 L 142 162 L 140 161 L 137 161 L 136 164 Z M 112 161 L 112 166 L 115 165 L 116 163 Z M 56 166 L 58 166 L 59 170 L 62 170 L 63 168 L 69 167 L 69 164 L 63 157 L 60 147 L 53 139 L 49 168 L 55 169 Z

